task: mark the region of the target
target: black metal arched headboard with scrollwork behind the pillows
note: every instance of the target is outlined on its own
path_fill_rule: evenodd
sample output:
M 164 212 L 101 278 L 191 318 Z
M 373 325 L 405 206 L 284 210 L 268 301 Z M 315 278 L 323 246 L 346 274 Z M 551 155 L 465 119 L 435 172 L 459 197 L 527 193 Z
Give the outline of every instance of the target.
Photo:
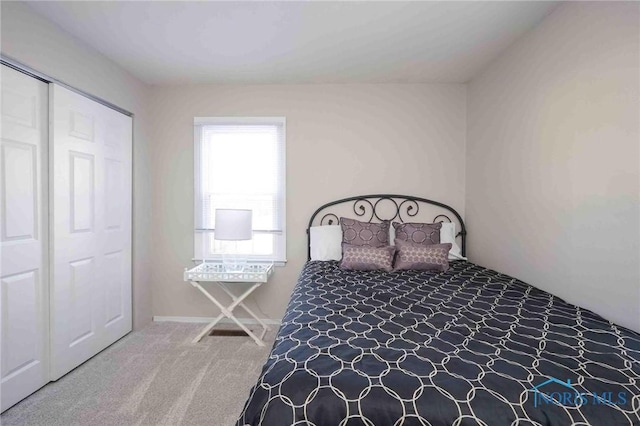
M 380 212 L 377 207 L 380 205 L 381 201 L 391 201 L 393 206 L 395 206 L 395 214 L 392 211 L 391 217 L 383 217 L 381 218 Z M 458 214 L 457 211 L 453 207 L 450 207 L 446 204 L 440 203 L 438 201 L 428 200 L 426 198 L 414 197 L 411 195 L 396 195 L 396 194 L 374 194 L 374 195 L 357 195 L 354 197 L 343 198 L 341 200 L 331 201 L 329 203 L 323 204 L 320 206 L 313 214 L 311 215 L 311 219 L 309 219 L 309 225 L 307 226 L 307 259 L 311 259 L 311 239 L 309 235 L 309 229 L 314 226 L 314 220 L 320 213 L 323 213 L 320 217 L 320 220 L 317 221 L 316 225 L 333 225 L 338 224 L 339 219 L 338 215 L 332 213 L 330 211 L 330 207 L 337 206 L 339 204 L 348 204 L 353 203 L 353 213 L 359 218 L 359 220 L 363 222 L 372 222 L 374 220 L 382 221 L 382 220 L 396 220 L 399 222 L 406 222 L 410 220 L 412 217 L 415 217 L 420 211 L 420 204 L 431 204 L 434 206 L 441 207 L 444 210 L 452 213 L 454 217 L 460 223 L 460 231 L 456 235 L 456 237 L 460 237 L 461 244 L 460 247 L 462 249 L 462 255 L 465 256 L 466 247 L 465 240 L 467 235 L 467 230 L 464 226 L 464 221 L 462 217 Z M 393 209 L 392 209 L 393 210 Z M 326 211 L 326 212 L 325 212 Z M 443 219 L 452 222 L 451 218 L 446 214 L 438 214 L 435 218 L 433 218 L 433 222 L 442 221 Z

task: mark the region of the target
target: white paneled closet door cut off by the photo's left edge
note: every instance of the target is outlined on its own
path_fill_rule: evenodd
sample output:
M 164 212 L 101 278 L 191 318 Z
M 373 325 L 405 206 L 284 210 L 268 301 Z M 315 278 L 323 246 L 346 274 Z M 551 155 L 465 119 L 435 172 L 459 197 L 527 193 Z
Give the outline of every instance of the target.
M 47 84 L 2 66 L 2 410 L 48 381 Z

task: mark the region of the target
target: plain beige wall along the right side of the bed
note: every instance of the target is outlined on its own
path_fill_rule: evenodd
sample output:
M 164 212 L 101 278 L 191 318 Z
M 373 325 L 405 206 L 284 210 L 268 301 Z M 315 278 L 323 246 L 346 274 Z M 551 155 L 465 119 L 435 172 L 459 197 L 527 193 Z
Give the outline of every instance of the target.
M 472 261 L 640 331 L 638 3 L 568 3 L 469 85 Z

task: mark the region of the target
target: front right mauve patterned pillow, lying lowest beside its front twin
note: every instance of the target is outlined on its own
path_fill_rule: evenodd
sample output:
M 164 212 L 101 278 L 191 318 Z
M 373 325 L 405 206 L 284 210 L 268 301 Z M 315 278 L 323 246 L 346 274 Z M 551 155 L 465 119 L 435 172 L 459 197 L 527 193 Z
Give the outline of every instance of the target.
M 393 269 L 417 269 L 420 271 L 449 269 L 449 250 L 451 243 L 422 245 L 396 238 L 396 261 Z

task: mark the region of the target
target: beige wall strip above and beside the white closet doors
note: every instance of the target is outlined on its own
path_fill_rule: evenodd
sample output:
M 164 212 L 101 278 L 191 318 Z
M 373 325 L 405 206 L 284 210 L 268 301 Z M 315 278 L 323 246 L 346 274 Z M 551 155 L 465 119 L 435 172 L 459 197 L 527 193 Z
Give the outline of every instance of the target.
M 135 114 L 133 120 L 133 319 L 151 321 L 149 87 L 20 2 L 1 2 L 1 51 L 36 71 Z

